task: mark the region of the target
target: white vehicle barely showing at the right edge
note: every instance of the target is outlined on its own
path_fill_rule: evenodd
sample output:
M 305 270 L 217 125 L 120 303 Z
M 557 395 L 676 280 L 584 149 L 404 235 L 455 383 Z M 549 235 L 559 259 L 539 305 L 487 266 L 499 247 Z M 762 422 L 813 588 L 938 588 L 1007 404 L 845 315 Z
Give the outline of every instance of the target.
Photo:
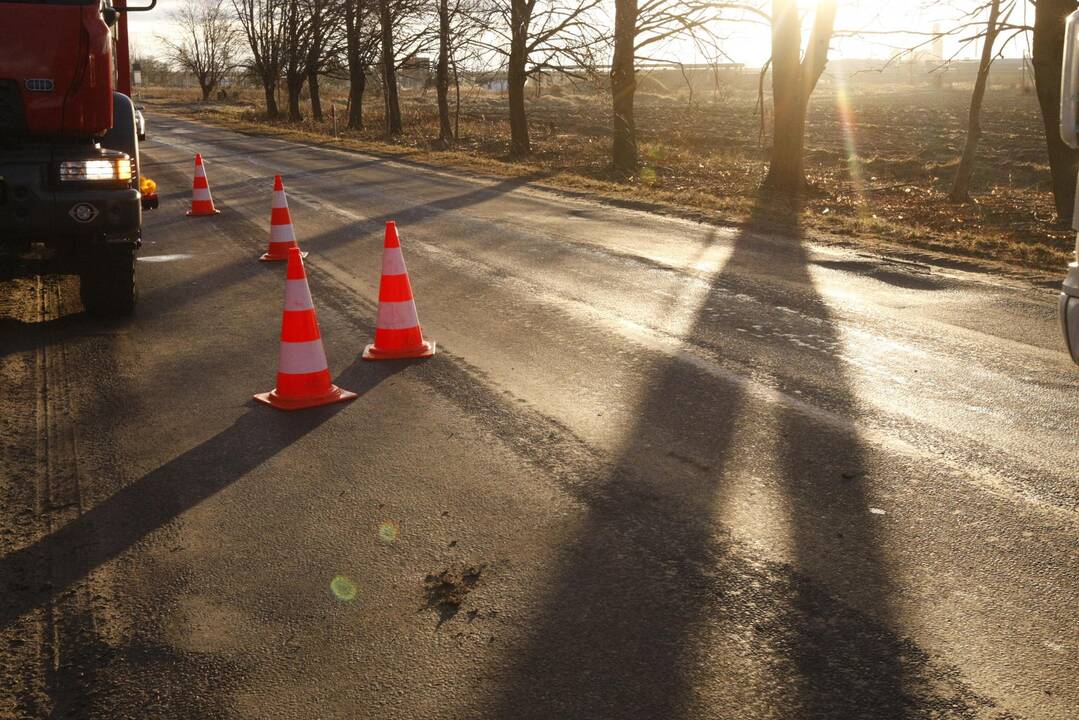
M 1079 10 L 1068 15 L 1065 27 L 1061 138 L 1068 146 L 1079 149 Z M 1079 203 L 1071 217 L 1071 227 L 1076 230 L 1076 258 L 1068 264 L 1068 274 L 1061 288 L 1061 328 L 1071 359 L 1079 363 Z

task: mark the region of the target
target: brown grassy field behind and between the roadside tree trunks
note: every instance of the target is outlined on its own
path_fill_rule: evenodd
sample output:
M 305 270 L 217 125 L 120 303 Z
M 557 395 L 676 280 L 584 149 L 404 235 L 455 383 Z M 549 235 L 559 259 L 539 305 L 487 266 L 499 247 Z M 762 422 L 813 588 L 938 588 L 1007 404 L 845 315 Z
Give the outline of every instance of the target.
M 525 163 L 507 159 L 505 97 L 478 90 L 462 98 L 460 139 L 451 150 L 434 144 L 433 90 L 405 92 L 406 130 L 393 141 L 382 133 L 379 96 L 368 98 L 364 131 L 343 128 L 344 101 L 337 99 L 341 130 L 333 141 L 488 175 L 530 175 L 543 185 L 654 204 L 709 221 L 738 222 L 747 216 L 767 169 L 767 136 L 762 141 L 751 82 L 698 92 L 693 98 L 685 91 L 645 84 L 638 97 L 644 167 L 630 180 L 609 167 L 609 98 L 554 90 L 530 101 L 535 154 Z M 329 118 L 323 123 L 270 122 L 257 92 L 233 95 L 204 104 L 192 91 L 144 89 L 141 101 L 246 132 L 331 139 Z M 324 90 L 327 110 L 330 99 L 344 96 L 343 87 Z M 804 225 L 855 243 L 900 244 L 1047 270 L 1063 267 L 1075 235 L 1053 217 L 1033 93 L 991 89 L 971 189 L 974 202 L 947 201 L 968 103 L 967 87 L 882 90 L 865 83 L 818 89 L 807 131 L 812 192 L 802 207 Z

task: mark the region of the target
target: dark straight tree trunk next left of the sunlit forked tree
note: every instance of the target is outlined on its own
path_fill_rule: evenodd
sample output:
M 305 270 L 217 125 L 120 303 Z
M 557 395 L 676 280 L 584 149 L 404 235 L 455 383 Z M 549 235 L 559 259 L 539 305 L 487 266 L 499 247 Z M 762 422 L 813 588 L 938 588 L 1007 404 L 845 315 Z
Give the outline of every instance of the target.
M 637 0 L 615 0 L 614 56 L 611 58 L 611 97 L 614 137 L 611 161 L 615 169 L 636 174 L 637 126 L 633 120 L 633 94 L 637 92 L 634 65 L 637 43 Z

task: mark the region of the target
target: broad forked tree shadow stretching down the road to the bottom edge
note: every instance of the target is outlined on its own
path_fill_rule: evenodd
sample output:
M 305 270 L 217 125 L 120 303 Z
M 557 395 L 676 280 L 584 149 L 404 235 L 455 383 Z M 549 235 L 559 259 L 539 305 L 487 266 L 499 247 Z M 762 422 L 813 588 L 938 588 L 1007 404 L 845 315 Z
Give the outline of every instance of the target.
M 687 339 L 735 335 L 724 325 L 729 321 L 709 310 L 728 300 L 723 285 L 732 276 L 752 273 L 801 285 L 801 311 L 819 321 L 811 332 L 823 348 L 842 345 L 793 217 L 786 221 L 789 239 L 770 239 L 775 252 L 762 252 L 755 229 L 774 230 L 776 216 L 757 204 Z M 766 340 L 751 351 L 769 355 L 762 365 L 779 383 L 798 357 L 782 342 Z M 833 399 L 856 407 L 843 362 L 832 351 L 817 355 L 820 381 L 843 396 Z M 920 715 L 912 712 L 915 705 L 932 705 L 940 691 L 929 680 L 918 684 L 931 673 L 928 660 L 888 629 L 888 578 L 866 507 L 857 433 L 822 424 L 796 405 L 751 399 L 741 385 L 678 359 L 656 361 L 650 370 L 625 450 L 582 493 L 587 516 L 560 548 L 549 592 L 538 594 L 544 606 L 529 640 L 514 649 L 504 685 L 479 714 L 590 720 Z M 762 446 L 760 430 L 754 434 L 761 424 L 779 431 L 771 447 Z M 749 447 L 736 443 L 736 432 Z M 736 474 L 768 477 L 769 470 L 784 498 L 790 563 L 757 559 L 714 521 Z M 836 598 L 850 587 L 860 588 L 858 610 Z M 732 705 L 710 706 L 716 698 Z M 953 696 L 938 709 L 958 715 L 962 702 Z

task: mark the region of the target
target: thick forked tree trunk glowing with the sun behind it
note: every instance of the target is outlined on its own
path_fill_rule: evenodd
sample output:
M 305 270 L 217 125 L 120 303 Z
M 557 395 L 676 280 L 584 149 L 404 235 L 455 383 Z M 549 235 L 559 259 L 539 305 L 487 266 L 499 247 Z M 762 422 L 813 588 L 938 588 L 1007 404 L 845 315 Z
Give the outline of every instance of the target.
M 766 188 L 796 194 L 805 188 L 805 130 L 809 96 L 828 65 L 836 0 L 820 0 L 802 54 L 802 17 L 795 0 L 771 3 L 774 121 Z

